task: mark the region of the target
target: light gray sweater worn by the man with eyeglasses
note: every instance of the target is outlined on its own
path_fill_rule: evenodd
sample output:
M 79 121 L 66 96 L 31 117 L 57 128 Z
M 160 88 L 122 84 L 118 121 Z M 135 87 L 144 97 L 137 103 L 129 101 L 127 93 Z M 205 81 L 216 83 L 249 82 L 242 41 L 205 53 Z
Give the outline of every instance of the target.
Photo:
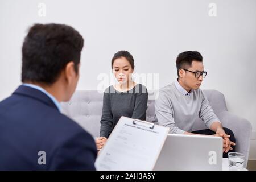
M 213 122 L 220 122 L 201 89 L 185 94 L 177 81 L 159 90 L 155 114 L 158 124 L 170 127 L 170 133 L 173 134 L 191 132 L 198 117 L 208 128 Z

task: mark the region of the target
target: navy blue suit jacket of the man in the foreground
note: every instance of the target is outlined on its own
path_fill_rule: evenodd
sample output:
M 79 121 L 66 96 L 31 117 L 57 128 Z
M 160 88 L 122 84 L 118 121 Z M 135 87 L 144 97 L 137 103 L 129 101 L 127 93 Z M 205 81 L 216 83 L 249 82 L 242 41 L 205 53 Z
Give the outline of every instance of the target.
M 94 139 L 40 90 L 0 102 L 0 170 L 94 170 Z

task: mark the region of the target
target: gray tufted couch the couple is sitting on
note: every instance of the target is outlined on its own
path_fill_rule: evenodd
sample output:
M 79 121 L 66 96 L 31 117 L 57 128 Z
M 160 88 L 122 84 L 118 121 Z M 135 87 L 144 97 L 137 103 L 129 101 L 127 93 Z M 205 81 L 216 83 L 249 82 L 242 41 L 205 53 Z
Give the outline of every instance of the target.
M 233 131 L 236 137 L 236 151 L 242 152 L 246 156 L 245 166 L 249 156 L 250 135 L 252 126 L 249 121 L 229 113 L 226 107 L 225 97 L 217 90 L 204 90 L 207 99 L 214 112 L 220 118 L 222 125 Z M 153 95 L 155 93 L 152 93 Z M 151 95 L 152 95 L 151 94 Z M 65 115 L 75 120 L 93 137 L 100 134 L 100 120 L 102 112 L 102 93 L 97 90 L 76 91 L 71 101 L 61 103 L 62 111 Z M 148 100 L 147 118 L 149 122 L 155 121 L 154 100 Z M 203 121 L 199 118 L 192 127 L 192 131 L 206 129 Z

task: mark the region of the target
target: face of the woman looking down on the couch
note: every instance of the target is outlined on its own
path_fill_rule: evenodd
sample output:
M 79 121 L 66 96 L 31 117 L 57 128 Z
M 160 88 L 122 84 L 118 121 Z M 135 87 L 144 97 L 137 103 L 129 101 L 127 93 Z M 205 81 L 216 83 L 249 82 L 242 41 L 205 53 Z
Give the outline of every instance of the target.
M 120 57 L 114 60 L 113 72 L 115 78 L 117 78 L 117 81 L 120 84 L 124 84 L 127 81 L 131 80 L 133 68 L 131 68 L 131 64 L 125 57 Z

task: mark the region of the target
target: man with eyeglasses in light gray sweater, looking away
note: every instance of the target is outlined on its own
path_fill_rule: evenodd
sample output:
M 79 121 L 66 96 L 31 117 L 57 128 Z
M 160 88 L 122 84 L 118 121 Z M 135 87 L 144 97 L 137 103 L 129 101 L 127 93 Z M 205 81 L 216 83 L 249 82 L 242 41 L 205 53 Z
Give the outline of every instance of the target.
M 176 59 L 178 78 L 159 90 L 155 100 L 155 114 L 159 125 L 170 127 L 172 134 L 214 135 L 223 138 L 223 156 L 235 150 L 235 138 L 230 129 L 223 128 L 214 114 L 205 94 L 200 89 L 204 71 L 203 57 L 197 51 L 185 51 Z M 208 127 L 206 130 L 192 131 L 197 117 Z

